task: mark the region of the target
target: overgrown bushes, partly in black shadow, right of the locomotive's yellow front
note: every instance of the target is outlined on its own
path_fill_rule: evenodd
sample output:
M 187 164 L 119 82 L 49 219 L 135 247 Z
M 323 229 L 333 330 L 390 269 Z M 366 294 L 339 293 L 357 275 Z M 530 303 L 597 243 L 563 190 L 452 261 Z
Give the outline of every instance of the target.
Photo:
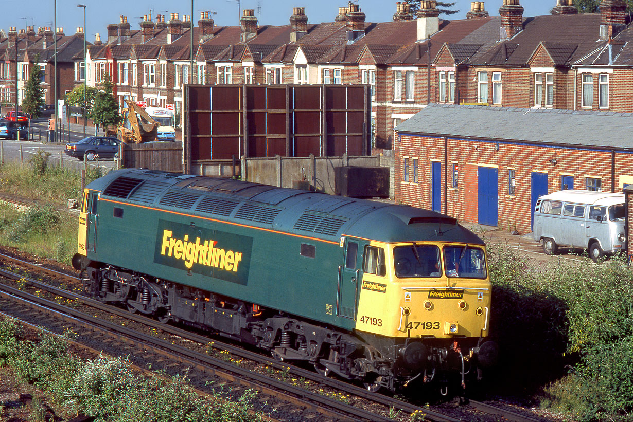
M 491 327 L 497 380 L 582 421 L 629 420 L 633 411 L 633 273 L 623 259 L 535 268 L 490 247 Z

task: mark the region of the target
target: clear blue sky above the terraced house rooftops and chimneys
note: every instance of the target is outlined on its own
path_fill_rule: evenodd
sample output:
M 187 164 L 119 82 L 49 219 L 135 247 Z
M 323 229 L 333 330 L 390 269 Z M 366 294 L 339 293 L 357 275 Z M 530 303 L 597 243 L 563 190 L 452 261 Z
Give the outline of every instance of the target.
M 84 26 L 83 9 L 77 3 L 87 5 L 87 40 L 94 41 L 94 34 L 99 32 L 101 38 L 106 37 L 106 25 L 118 23 L 119 16 L 128 17 L 132 29 L 139 29 L 143 15 L 152 16 L 179 13 L 181 16 L 191 13 L 189 0 L 56 0 L 57 26 L 64 27 L 66 35 L 74 34 L 76 27 Z M 286 25 L 292 15 L 293 6 L 304 6 L 310 23 L 332 22 L 339 6 L 346 6 L 347 0 L 240 0 L 241 9 L 257 9 L 258 1 L 261 12 L 258 15 L 260 25 Z M 0 28 L 8 31 L 9 27 L 25 28 L 33 25 L 53 27 L 54 0 L 3 0 L 3 13 L 0 14 Z M 487 0 L 486 10 L 498 16 L 501 0 Z M 556 0 L 522 0 L 525 12 L 523 16 L 546 15 L 549 9 L 556 6 Z M 395 0 L 360 0 L 361 11 L 367 15 L 368 22 L 385 22 L 391 20 L 396 11 Z M 458 0 L 456 8 L 460 13 L 453 18 L 465 18 L 470 10 L 470 0 Z M 211 10 L 218 14 L 213 16 L 217 25 L 239 25 L 239 9 L 237 0 L 194 0 L 194 21 L 197 22 L 200 11 Z

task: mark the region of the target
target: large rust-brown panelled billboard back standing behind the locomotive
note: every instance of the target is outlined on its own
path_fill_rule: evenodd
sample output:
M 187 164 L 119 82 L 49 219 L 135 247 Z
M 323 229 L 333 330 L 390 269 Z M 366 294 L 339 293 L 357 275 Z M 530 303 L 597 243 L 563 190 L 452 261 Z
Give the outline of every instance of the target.
M 185 85 L 185 171 L 247 158 L 364 156 L 368 85 Z

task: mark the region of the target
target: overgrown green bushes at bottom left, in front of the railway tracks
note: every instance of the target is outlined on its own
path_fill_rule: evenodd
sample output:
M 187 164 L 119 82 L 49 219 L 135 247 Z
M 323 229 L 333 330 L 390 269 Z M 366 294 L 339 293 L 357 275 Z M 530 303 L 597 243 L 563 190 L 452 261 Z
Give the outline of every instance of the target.
M 125 359 L 99 355 L 84 360 L 68 353 L 61 338 L 41 332 L 39 341 L 20 340 L 11 320 L 0 319 L 0 366 L 10 366 L 24 381 L 40 388 L 68 414 L 96 421 L 262 421 L 249 414 L 255 393 L 234 402 L 206 399 L 189 387 L 186 376 L 164 380 L 132 372 Z

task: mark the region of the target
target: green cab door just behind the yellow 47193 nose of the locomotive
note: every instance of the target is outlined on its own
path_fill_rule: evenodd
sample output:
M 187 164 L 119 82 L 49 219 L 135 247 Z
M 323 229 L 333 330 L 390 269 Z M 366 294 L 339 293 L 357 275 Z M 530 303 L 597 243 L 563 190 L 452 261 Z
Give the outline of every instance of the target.
M 337 316 L 356 320 L 356 302 L 362 271 L 361 247 L 356 240 L 345 239 L 343 264 L 339 266 L 339 285 L 336 303 Z

